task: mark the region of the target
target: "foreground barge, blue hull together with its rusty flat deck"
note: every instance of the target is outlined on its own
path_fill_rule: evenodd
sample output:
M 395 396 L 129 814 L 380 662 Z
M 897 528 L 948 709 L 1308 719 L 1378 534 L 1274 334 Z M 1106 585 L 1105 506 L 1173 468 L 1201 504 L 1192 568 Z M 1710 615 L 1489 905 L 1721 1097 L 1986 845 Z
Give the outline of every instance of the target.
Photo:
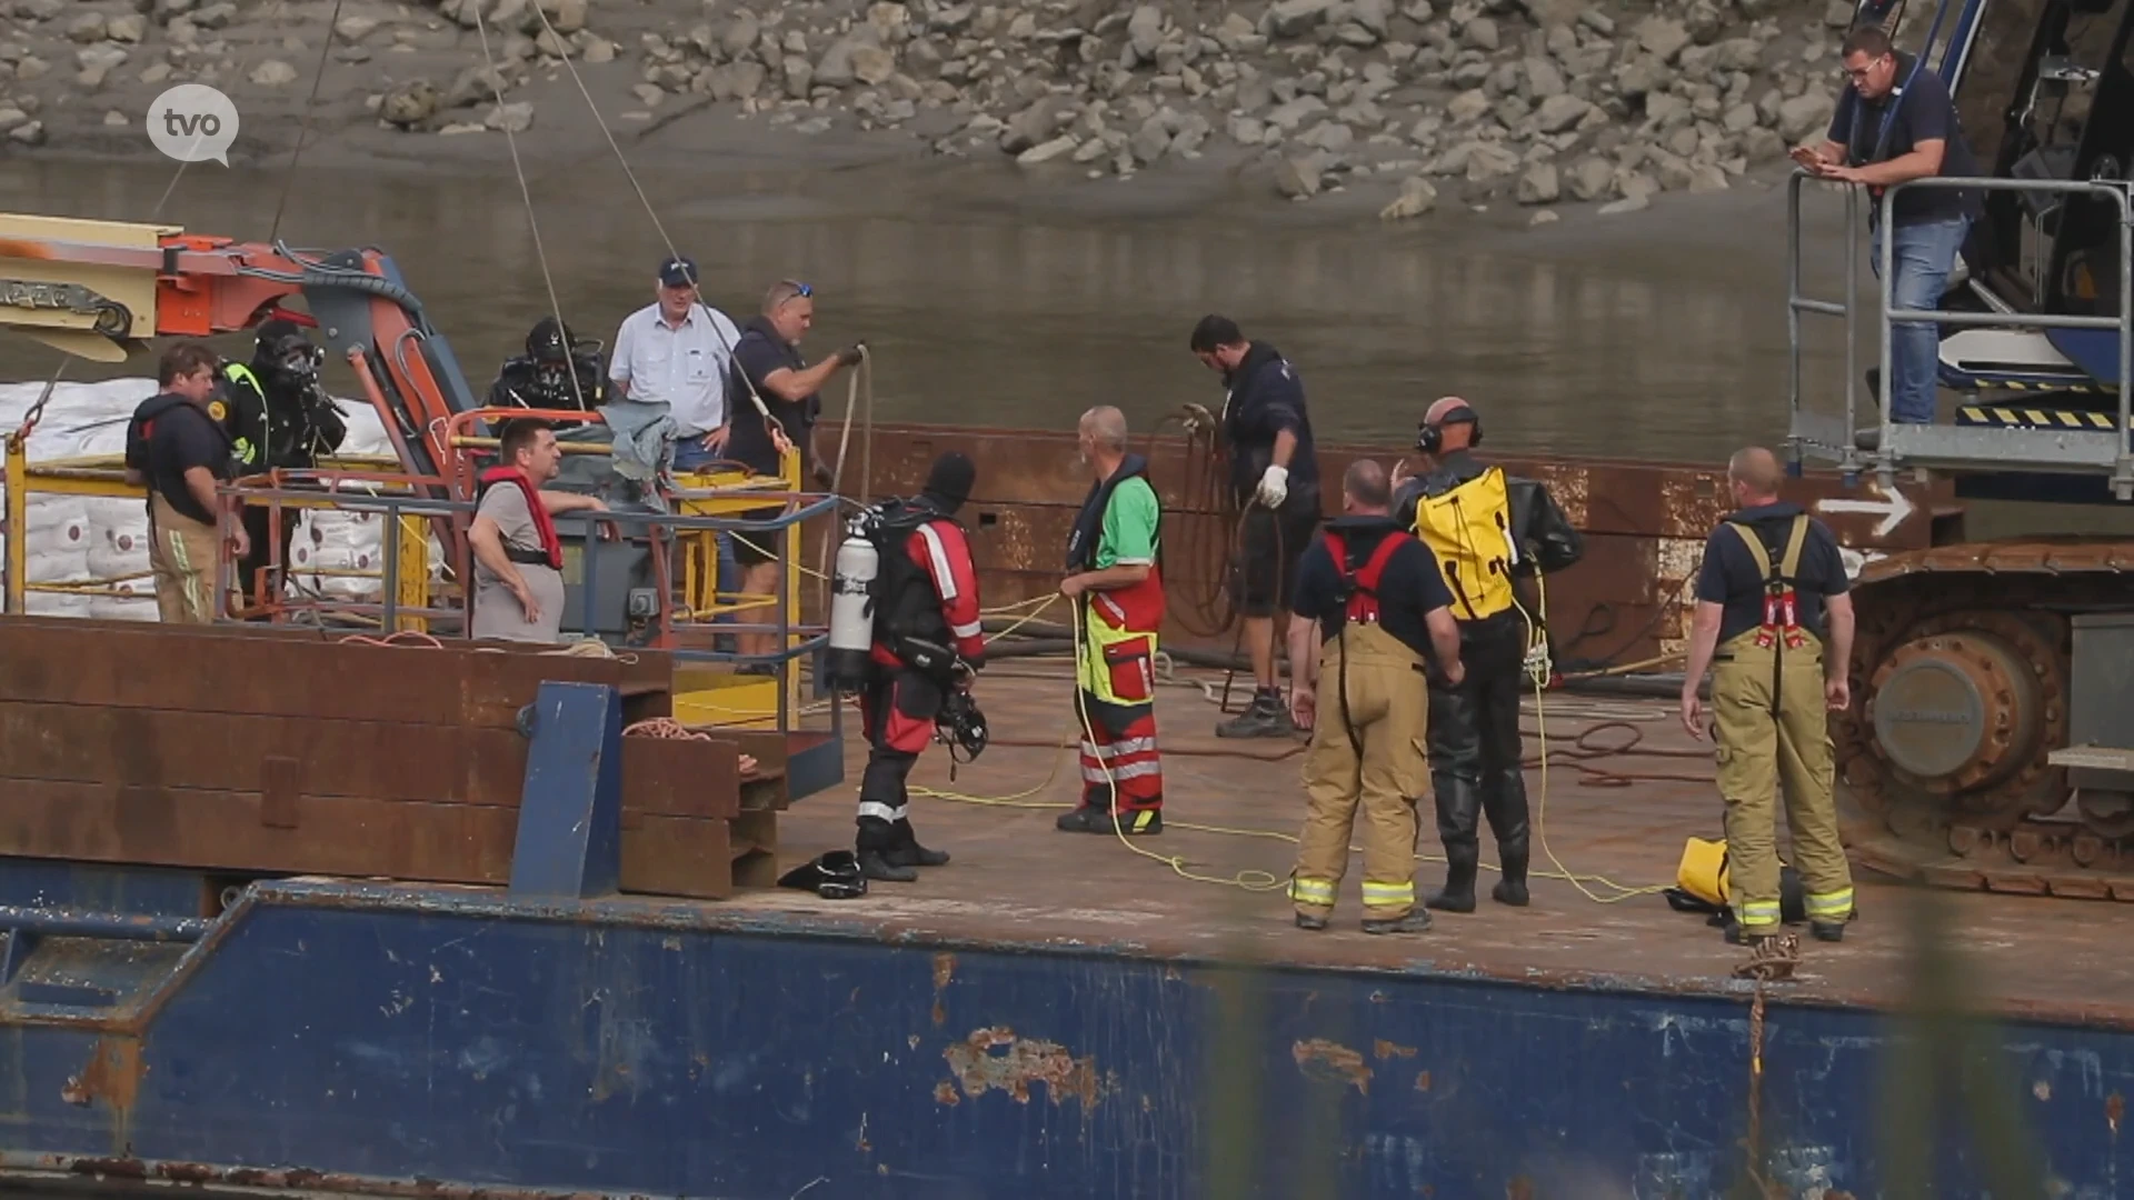
M 1054 728 L 1061 696 L 1003 679 L 986 705 L 997 728 Z M 1165 705 L 1165 720 L 1208 711 Z M 1643 724 L 1654 754 L 1688 745 L 1635 707 L 1588 715 Z M 1219 752 L 1193 722 L 1165 737 L 1154 852 L 1204 880 L 1285 875 L 1300 814 L 1293 767 L 1270 762 L 1293 752 Z M 913 820 L 956 860 L 856 901 L 290 878 L 222 907 L 203 903 L 218 880 L 190 871 L 0 858 L 0 929 L 28 929 L 0 948 L 0 1181 L 469 1200 L 1985 1200 L 1989 1151 L 2021 1134 L 2034 1189 L 1995 1198 L 2102 1200 L 2134 1166 L 2130 905 L 1940 897 L 1959 982 L 1997 1021 L 1972 1061 L 1925 1044 L 1940 1074 L 1910 1083 L 1942 1100 L 1921 1121 L 1940 1121 L 1893 1157 L 1880 1134 L 1901 1095 L 1884 1074 L 1918 1031 L 1886 1014 L 1918 986 L 1908 888 L 1861 875 L 1844 944 L 1807 942 L 1797 978 L 1769 986 L 1752 1119 L 1739 950 L 1652 895 L 1592 903 L 1598 875 L 1575 890 L 1554 867 L 1671 878 L 1682 837 L 1716 822 L 1694 777 L 1622 790 L 1530 773 L 1532 907 L 1483 901 L 1423 935 L 1368 937 L 1353 882 L 1336 929 L 1306 933 L 1280 893 L 1201 886 L 1112 837 L 1054 833 L 1044 807 L 943 794 L 1073 803 L 1054 745 L 1001 739 L 956 784 L 924 760 Z M 858 777 L 864 747 L 843 754 Z M 849 837 L 851 807 L 828 794 L 779 820 L 787 865 Z M 1968 1102 L 1997 1106 L 1987 1127 Z M 1741 1189 L 1746 1164 L 1767 1189 Z

